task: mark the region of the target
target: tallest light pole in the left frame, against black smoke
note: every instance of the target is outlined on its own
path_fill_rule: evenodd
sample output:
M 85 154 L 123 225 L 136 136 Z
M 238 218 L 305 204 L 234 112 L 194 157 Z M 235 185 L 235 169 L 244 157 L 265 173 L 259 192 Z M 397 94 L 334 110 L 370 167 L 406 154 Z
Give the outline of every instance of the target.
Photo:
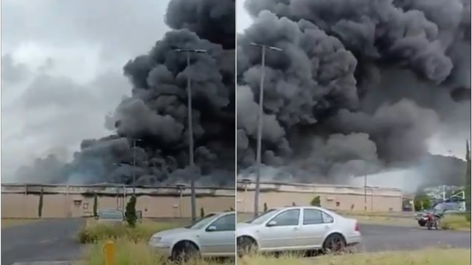
M 187 69 L 190 69 L 190 53 L 207 53 L 207 50 L 202 49 L 174 49 L 175 52 L 178 53 L 185 53 L 187 56 Z M 188 156 L 189 156 L 189 164 L 190 168 L 193 170 L 194 168 L 194 159 L 193 159 L 193 124 L 192 124 L 192 82 L 187 75 L 187 116 L 188 116 Z M 192 208 L 192 222 L 197 220 L 197 206 L 196 206 L 196 195 L 195 195 L 195 176 L 190 176 L 190 205 Z

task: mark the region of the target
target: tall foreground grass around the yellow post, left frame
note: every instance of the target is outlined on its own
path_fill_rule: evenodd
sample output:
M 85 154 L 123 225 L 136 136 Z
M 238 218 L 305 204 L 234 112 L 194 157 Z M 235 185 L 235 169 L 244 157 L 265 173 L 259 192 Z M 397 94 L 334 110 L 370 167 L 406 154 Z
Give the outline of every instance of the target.
M 103 242 L 90 246 L 80 265 L 103 265 Z M 119 239 L 115 243 L 115 265 L 175 265 L 168 259 L 152 251 L 145 242 L 130 242 Z M 193 260 L 182 265 L 234 265 L 234 261 Z

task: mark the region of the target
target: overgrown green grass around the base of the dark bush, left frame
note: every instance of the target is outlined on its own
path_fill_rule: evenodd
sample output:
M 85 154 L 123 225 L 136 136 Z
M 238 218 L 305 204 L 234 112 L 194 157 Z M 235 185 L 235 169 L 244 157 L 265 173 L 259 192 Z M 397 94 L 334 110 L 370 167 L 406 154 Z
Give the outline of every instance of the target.
M 88 220 L 85 228 L 79 231 L 77 238 L 81 243 L 96 243 L 108 239 L 127 239 L 132 242 L 148 242 L 149 238 L 159 231 L 182 226 L 179 223 L 155 222 L 143 220 L 135 227 L 129 227 L 125 223 L 110 224 L 98 223 Z

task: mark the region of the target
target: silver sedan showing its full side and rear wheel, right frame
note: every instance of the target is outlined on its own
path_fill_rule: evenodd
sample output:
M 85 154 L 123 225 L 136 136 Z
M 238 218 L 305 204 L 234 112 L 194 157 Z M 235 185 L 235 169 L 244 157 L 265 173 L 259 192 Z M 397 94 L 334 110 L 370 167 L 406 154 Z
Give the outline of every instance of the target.
M 269 210 L 236 225 L 238 254 L 248 251 L 340 251 L 361 242 L 357 220 L 320 207 Z

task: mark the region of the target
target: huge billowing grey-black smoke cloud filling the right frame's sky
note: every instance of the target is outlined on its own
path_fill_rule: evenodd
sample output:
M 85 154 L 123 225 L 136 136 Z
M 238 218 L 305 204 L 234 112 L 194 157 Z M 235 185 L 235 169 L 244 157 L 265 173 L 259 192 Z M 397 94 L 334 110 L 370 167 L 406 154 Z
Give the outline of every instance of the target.
M 272 179 L 345 184 L 352 175 L 430 168 L 435 133 L 470 137 L 470 0 L 245 7 L 254 23 L 236 48 L 239 174 L 255 162 L 262 53 L 253 42 L 283 49 L 266 52 L 263 163 Z

